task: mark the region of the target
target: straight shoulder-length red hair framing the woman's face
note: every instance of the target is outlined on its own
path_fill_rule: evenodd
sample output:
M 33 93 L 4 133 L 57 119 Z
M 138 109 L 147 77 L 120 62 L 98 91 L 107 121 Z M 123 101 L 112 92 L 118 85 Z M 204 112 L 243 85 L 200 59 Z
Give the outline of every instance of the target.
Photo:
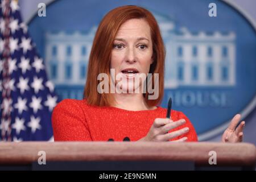
M 90 52 L 84 98 L 89 105 L 112 106 L 115 102 L 113 94 L 98 93 L 97 86 L 100 73 L 106 73 L 110 78 L 110 59 L 115 36 L 119 27 L 129 19 L 144 19 L 150 26 L 153 46 L 153 60 L 150 65 L 152 73 L 152 88 L 154 88 L 154 73 L 159 74 L 159 95 L 156 100 L 148 100 L 148 92 L 144 94 L 148 106 L 160 104 L 164 92 L 164 59 L 165 48 L 158 23 L 150 11 L 138 6 L 117 7 L 104 16 L 96 31 Z M 110 86 L 110 83 L 109 83 Z M 157 88 L 156 88 L 157 89 Z

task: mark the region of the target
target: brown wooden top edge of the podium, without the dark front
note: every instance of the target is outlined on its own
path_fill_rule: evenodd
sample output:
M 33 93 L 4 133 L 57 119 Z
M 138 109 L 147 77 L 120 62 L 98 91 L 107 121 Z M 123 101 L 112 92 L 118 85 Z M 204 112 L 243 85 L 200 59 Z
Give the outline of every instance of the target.
M 0 164 L 29 164 L 46 152 L 46 161 L 189 160 L 208 164 L 216 151 L 218 165 L 253 166 L 256 148 L 249 143 L 169 142 L 0 142 Z

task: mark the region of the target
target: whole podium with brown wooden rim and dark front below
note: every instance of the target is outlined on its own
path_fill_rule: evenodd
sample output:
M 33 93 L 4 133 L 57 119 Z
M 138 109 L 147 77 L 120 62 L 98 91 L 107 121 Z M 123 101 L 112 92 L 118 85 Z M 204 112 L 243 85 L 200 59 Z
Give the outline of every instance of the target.
M 210 151 L 217 164 L 209 164 Z M 38 163 L 42 152 L 46 164 Z M 0 142 L 2 170 L 255 170 L 255 163 L 249 143 Z

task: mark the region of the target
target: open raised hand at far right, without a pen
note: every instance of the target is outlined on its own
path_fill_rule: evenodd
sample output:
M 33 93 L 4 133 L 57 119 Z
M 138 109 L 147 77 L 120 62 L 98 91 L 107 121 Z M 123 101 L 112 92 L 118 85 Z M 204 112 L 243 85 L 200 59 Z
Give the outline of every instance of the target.
M 241 119 L 240 114 L 236 114 L 231 120 L 228 129 L 226 129 L 222 135 L 222 142 L 242 142 L 243 139 L 243 128 L 245 127 L 245 121 L 242 121 L 240 125 L 236 128 L 238 122 Z

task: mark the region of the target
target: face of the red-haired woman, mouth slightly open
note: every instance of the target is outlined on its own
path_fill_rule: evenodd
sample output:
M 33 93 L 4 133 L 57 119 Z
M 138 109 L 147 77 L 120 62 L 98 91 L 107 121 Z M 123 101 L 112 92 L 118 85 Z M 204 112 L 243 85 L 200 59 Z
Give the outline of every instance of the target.
M 152 55 L 150 26 L 146 20 L 130 19 L 123 23 L 114 39 L 110 61 L 110 68 L 115 71 L 115 84 L 119 80 L 127 83 L 121 84 L 121 88 L 129 93 L 139 88 L 144 77 L 141 81 L 135 81 L 135 78 L 143 74 L 147 76 L 154 61 Z M 117 75 L 121 79 L 117 79 Z

